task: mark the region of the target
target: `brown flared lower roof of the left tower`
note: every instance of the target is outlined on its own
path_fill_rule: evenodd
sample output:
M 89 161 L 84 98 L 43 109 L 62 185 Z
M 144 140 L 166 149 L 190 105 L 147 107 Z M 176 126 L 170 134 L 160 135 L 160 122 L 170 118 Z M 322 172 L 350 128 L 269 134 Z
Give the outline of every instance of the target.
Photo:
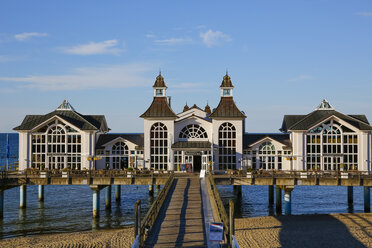
M 154 97 L 150 107 L 143 113 L 141 118 L 151 117 L 165 117 L 165 118 L 177 118 L 177 115 L 173 112 L 167 102 L 166 97 Z

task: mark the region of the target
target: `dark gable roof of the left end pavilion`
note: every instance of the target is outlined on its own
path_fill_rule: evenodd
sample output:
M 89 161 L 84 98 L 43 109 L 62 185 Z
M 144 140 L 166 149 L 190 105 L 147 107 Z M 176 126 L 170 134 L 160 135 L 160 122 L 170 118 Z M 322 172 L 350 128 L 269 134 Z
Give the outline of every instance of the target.
M 60 117 L 80 130 L 99 130 L 106 122 L 104 115 L 82 115 L 73 110 L 55 110 L 46 115 L 26 115 L 21 125 L 15 127 L 13 130 L 32 130 L 54 116 Z

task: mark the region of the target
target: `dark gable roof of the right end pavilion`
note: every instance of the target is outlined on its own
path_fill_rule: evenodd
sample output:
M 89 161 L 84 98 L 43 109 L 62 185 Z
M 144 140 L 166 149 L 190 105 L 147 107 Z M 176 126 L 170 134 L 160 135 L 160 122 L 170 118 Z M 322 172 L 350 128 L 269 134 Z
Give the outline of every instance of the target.
M 365 115 L 344 115 L 336 110 L 315 110 L 308 115 L 284 116 L 281 131 L 308 130 L 318 122 L 336 116 L 359 130 L 372 131 Z

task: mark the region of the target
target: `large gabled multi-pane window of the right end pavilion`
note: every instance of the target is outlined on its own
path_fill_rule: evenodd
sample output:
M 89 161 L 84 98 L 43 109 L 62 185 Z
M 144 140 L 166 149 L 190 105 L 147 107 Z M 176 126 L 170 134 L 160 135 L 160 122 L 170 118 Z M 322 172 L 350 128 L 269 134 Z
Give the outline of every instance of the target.
M 329 121 L 306 135 L 307 169 L 358 169 L 358 135 Z

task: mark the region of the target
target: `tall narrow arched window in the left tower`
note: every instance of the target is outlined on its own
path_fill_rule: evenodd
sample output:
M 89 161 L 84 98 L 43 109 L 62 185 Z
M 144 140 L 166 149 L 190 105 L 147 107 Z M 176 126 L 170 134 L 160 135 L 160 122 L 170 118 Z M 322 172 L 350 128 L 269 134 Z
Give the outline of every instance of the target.
M 167 127 L 156 122 L 150 130 L 151 168 L 168 169 L 168 132 Z

